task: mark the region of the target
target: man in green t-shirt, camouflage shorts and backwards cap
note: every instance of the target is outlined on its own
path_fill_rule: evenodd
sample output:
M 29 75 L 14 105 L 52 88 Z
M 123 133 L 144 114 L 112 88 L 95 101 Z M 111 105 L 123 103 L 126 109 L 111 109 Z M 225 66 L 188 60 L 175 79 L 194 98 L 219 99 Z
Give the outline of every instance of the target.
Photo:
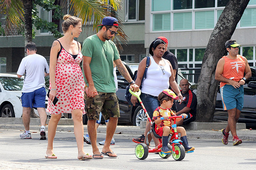
M 81 50 L 84 81 L 88 85 L 84 93 L 88 117 L 87 128 L 93 147 L 93 158 L 102 159 L 103 155 L 116 158 L 117 155 L 110 148 L 110 142 L 116 131 L 117 120 L 120 117 L 113 75 L 113 61 L 122 76 L 131 84 L 130 87 L 133 91 L 138 90 L 139 86 L 132 80 L 119 57 L 116 45 L 110 40 L 117 34 L 117 19 L 107 16 L 103 18 L 102 24 L 98 27 L 101 27 L 99 32 L 86 38 Z M 102 112 L 105 120 L 109 120 L 102 152 L 99 152 L 97 147 L 95 126 L 96 120 L 99 120 L 100 112 Z

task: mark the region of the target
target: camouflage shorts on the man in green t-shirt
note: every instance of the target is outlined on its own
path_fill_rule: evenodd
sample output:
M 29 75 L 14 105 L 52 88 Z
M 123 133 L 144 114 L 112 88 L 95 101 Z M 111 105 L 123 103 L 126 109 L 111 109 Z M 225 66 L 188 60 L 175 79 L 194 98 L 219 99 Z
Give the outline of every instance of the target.
M 116 93 L 98 92 L 98 94 L 95 97 L 87 97 L 84 92 L 85 111 L 88 120 L 99 120 L 100 113 L 105 120 L 109 120 L 110 117 L 120 117 Z

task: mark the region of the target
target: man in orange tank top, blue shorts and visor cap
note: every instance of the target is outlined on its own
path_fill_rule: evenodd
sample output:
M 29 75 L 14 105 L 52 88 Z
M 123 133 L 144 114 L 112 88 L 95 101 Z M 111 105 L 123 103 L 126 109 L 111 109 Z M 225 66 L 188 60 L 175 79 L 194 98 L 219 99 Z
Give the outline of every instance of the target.
M 227 144 L 229 131 L 233 136 L 233 145 L 242 143 L 236 132 L 236 123 L 240 117 L 244 104 L 244 87 L 245 80 L 252 76 L 250 66 L 244 56 L 238 54 L 236 40 L 227 40 L 225 43 L 229 52 L 227 56 L 223 56 L 217 64 L 215 79 L 220 83 L 221 98 L 223 110 L 227 110 L 229 118 L 227 127 L 222 129 L 222 143 Z M 245 76 L 244 76 L 245 73 Z

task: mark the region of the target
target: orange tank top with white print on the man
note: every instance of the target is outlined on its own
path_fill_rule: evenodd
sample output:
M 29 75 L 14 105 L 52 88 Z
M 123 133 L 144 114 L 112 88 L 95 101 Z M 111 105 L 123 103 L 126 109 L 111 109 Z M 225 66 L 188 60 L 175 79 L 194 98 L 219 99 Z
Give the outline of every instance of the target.
M 238 55 L 237 59 L 229 59 L 226 56 L 222 58 L 225 59 L 224 69 L 222 76 L 234 81 L 240 81 L 244 77 L 245 61 L 242 55 Z M 220 87 L 224 86 L 226 83 L 221 82 Z

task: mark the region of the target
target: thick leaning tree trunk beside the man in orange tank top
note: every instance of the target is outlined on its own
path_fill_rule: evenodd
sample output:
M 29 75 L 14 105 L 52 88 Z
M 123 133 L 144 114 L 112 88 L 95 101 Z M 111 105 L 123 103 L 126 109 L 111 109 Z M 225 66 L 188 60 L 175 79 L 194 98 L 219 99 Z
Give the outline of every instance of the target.
M 225 42 L 233 35 L 248 3 L 249 0 L 230 0 L 212 31 L 197 85 L 196 121 L 213 120 L 219 84 L 215 80 L 215 69 L 219 59 L 227 54 Z M 237 41 L 239 43 L 239 39 Z

